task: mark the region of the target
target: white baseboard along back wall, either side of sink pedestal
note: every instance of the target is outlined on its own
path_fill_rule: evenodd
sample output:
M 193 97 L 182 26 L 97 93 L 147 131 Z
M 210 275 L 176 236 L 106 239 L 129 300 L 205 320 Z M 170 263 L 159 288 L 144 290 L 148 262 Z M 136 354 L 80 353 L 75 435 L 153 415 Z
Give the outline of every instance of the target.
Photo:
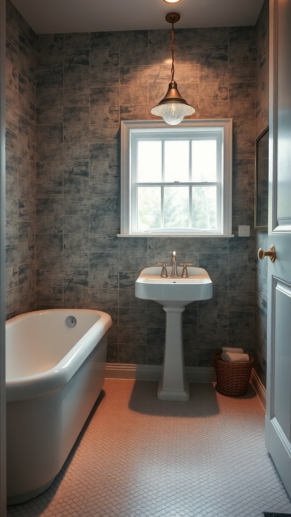
M 216 381 L 214 368 L 185 367 L 186 378 L 194 383 L 213 383 Z M 108 379 L 138 379 L 139 381 L 159 381 L 162 366 L 155 364 L 107 363 L 105 377 Z

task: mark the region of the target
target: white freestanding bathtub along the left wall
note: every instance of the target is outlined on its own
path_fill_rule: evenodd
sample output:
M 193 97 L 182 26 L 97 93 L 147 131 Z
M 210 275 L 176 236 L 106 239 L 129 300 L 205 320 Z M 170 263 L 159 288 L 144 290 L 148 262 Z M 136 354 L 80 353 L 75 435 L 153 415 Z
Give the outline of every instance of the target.
M 62 468 L 103 386 L 111 323 L 85 309 L 6 322 L 8 504 L 39 495 Z

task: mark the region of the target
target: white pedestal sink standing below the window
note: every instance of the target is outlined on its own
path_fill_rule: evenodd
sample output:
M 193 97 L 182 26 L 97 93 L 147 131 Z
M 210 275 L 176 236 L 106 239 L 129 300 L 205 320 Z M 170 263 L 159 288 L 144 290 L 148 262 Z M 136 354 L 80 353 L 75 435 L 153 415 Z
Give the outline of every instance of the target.
M 189 386 L 185 377 L 182 320 L 185 305 L 196 300 L 212 298 L 212 281 L 205 269 L 188 267 L 188 278 L 161 278 L 161 267 L 142 269 L 135 283 L 135 295 L 144 300 L 161 303 L 166 312 L 166 336 L 162 379 L 158 385 L 160 400 L 187 401 Z

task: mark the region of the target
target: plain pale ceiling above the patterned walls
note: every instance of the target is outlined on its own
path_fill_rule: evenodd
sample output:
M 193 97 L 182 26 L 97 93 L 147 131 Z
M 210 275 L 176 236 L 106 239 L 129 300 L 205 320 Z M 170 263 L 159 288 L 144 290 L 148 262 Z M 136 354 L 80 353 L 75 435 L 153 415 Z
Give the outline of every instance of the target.
M 12 0 L 36 34 L 255 25 L 264 0 Z

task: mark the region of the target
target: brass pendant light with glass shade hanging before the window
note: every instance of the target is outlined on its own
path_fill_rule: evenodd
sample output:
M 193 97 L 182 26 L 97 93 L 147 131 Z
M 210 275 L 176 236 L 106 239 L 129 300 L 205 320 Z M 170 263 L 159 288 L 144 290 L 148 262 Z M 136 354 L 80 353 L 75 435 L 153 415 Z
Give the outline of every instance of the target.
M 184 117 L 195 113 L 194 108 L 187 104 L 185 99 L 182 99 L 177 83 L 174 81 L 174 23 L 180 20 L 180 14 L 177 12 L 170 12 L 166 16 L 166 21 L 172 24 L 172 80 L 169 83 L 169 89 L 164 97 L 154 108 L 151 113 L 158 117 L 163 117 L 167 124 L 176 126 L 183 120 Z

